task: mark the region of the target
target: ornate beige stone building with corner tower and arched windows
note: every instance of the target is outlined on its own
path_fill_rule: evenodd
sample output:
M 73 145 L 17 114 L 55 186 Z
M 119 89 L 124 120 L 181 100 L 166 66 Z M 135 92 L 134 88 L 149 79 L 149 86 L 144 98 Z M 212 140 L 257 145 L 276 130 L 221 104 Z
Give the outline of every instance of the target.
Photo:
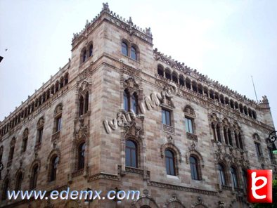
M 153 49 L 103 4 L 72 57 L 0 123 L 0 207 L 250 207 L 245 170 L 272 169 L 256 103 Z M 7 200 L 6 190 L 139 190 L 138 200 Z

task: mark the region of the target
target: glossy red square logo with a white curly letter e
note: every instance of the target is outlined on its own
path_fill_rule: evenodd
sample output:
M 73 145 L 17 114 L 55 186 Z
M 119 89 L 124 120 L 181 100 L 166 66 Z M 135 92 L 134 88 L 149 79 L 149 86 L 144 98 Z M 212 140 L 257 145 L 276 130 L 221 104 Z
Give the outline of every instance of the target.
M 272 203 L 272 170 L 247 170 L 247 201 Z

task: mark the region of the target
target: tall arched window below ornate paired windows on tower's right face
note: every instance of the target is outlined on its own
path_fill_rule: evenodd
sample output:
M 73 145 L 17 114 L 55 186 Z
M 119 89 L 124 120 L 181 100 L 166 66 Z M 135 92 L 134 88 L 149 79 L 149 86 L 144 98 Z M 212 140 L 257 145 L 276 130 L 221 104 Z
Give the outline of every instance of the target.
M 136 143 L 131 140 L 126 141 L 125 164 L 129 167 L 137 167 L 137 147 Z

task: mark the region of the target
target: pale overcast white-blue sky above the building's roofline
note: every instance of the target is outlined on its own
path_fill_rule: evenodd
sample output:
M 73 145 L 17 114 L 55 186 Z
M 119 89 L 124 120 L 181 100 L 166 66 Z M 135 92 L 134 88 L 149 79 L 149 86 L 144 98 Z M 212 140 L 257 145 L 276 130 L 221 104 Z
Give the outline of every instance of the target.
M 0 1 L 0 120 L 71 57 L 72 34 L 103 1 Z M 151 27 L 154 48 L 255 99 L 277 121 L 277 1 L 109 1 L 110 10 Z M 6 48 L 8 49 L 6 51 Z

